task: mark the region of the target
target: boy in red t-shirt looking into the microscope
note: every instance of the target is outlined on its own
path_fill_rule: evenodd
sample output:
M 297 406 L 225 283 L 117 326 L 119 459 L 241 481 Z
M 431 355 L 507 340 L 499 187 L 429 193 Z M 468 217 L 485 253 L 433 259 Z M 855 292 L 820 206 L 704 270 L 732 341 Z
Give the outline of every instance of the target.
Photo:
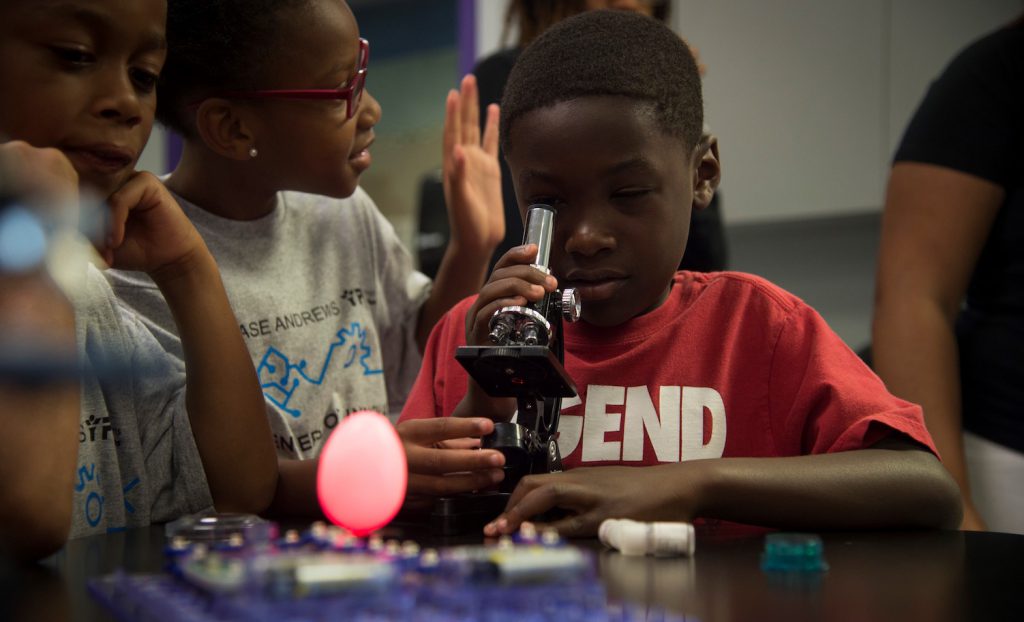
M 509 420 L 455 361 L 488 344 L 502 306 L 557 285 L 583 299 L 564 327 L 580 396 L 562 402 L 565 472 L 530 475 L 488 535 L 553 507 L 563 535 L 604 519 L 717 519 L 788 529 L 955 527 L 956 488 L 918 406 L 891 396 L 803 301 L 737 273 L 676 273 L 690 210 L 720 164 L 701 137 L 692 55 L 620 11 L 562 22 L 520 56 L 501 136 L 521 210 L 555 207 L 550 265 L 510 250 L 427 345 L 402 419 Z

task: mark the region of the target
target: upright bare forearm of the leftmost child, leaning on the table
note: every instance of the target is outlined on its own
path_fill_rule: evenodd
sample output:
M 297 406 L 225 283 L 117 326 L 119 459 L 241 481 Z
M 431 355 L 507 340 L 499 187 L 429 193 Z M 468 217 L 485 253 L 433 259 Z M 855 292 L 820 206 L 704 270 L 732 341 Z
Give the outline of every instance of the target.
M 213 256 L 200 247 L 152 275 L 184 350 L 186 404 L 210 493 L 220 511 L 263 511 L 276 456 L 263 395 Z

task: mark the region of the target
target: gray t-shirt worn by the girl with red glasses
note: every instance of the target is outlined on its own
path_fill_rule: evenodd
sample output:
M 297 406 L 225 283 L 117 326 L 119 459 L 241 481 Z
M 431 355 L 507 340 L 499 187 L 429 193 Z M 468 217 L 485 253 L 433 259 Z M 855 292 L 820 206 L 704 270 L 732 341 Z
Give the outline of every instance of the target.
M 280 456 L 316 457 L 351 412 L 399 412 L 422 362 L 416 324 L 430 280 L 361 189 L 347 199 L 281 193 L 272 212 L 245 221 L 177 199 L 217 260 Z M 180 357 L 153 281 L 121 271 L 108 278 Z

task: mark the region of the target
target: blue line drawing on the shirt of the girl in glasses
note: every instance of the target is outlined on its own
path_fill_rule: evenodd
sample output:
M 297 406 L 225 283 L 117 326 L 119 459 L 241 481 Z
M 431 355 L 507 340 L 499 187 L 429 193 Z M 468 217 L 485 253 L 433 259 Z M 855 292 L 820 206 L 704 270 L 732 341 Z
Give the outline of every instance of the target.
M 306 373 L 306 361 L 303 359 L 298 364 L 293 364 L 288 356 L 273 347 L 272 345 L 256 367 L 259 376 L 260 387 L 267 400 L 282 408 L 285 412 L 295 418 L 302 416 L 302 411 L 289 408 L 295 389 L 303 382 L 307 384 L 323 384 L 324 376 L 327 375 L 328 366 L 334 357 L 335 350 L 345 346 L 347 354 L 343 369 L 347 369 L 358 362 L 362 368 L 364 376 L 373 376 L 383 373 L 380 368 L 371 367 L 370 359 L 373 356 L 373 348 L 367 345 L 367 331 L 358 322 L 352 322 L 348 328 L 342 328 L 337 333 L 337 339 L 332 341 L 324 359 L 324 365 L 316 373 Z M 294 374 L 292 372 L 295 372 Z

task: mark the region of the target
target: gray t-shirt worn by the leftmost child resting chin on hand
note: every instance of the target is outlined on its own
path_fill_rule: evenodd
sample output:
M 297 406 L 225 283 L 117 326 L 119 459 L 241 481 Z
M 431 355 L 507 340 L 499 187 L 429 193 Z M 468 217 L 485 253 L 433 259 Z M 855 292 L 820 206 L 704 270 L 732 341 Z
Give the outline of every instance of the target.
M 184 366 L 117 300 L 91 264 L 84 284 L 69 294 L 87 366 L 71 537 L 164 523 L 211 507 L 185 409 Z

